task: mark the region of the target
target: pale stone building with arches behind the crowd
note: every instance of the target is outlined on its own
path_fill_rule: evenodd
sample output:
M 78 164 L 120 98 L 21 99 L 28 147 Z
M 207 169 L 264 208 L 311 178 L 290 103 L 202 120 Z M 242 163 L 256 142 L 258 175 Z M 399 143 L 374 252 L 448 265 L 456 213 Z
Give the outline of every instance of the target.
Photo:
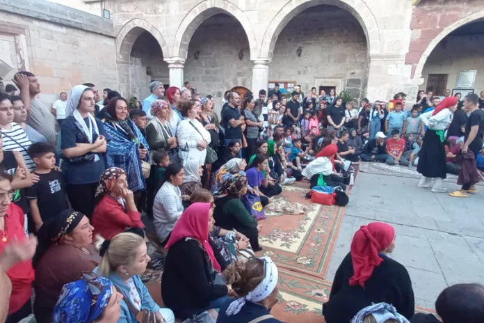
M 484 88 L 484 0 L 55 2 L 0 0 L 3 83 L 31 70 L 46 101 L 87 81 L 138 99 L 152 80 L 215 97 L 284 81 L 408 102 L 460 75 L 474 75 L 465 90 Z

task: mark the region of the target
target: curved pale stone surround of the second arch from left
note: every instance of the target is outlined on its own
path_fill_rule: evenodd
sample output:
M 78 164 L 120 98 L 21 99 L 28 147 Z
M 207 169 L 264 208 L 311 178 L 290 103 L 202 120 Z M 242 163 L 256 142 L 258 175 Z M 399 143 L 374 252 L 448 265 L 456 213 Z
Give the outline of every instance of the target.
M 240 22 L 248 38 L 250 59 L 255 60 L 257 58 L 257 41 L 252 29 L 252 23 L 240 8 L 225 0 L 203 1 L 186 14 L 175 35 L 172 56 L 186 59 L 188 56 L 188 45 L 190 44 L 193 33 L 195 33 L 204 21 L 219 13 L 230 15 Z

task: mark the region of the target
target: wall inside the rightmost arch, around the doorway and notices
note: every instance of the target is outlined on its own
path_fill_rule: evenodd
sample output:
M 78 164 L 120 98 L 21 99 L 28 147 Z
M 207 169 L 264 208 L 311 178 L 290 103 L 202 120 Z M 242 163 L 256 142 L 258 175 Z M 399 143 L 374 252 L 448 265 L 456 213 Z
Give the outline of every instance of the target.
M 459 71 L 477 70 L 474 93 L 480 93 L 484 89 L 484 35 L 448 36 L 446 42 L 445 48 L 437 45 L 428 56 L 422 72 L 422 77 L 426 81 L 421 89 L 426 89 L 428 74 L 449 74 L 447 88 L 452 90 L 455 88 Z

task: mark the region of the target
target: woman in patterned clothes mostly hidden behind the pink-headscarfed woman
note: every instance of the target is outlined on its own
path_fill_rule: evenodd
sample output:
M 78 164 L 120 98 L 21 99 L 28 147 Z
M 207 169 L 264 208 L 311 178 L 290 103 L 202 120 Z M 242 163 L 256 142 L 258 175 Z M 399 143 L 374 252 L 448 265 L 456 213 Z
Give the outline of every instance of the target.
M 213 201 L 213 195 L 207 189 L 197 189 L 190 196 L 190 204 L 200 202 L 213 205 Z M 254 255 L 252 248 L 250 248 L 249 239 L 236 230 L 225 230 L 219 226 L 213 226 L 210 236 L 216 244 L 218 252 L 228 264 L 237 260 L 238 252 Z

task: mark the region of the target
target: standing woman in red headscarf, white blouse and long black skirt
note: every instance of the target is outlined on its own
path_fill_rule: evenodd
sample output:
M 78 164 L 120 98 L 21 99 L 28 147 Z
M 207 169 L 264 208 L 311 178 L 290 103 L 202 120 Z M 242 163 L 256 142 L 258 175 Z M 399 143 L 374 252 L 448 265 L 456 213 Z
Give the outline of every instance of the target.
M 442 187 L 443 179 L 446 178 L 446 154 L 445 154 L 445 130 L 452 120 L 452 115 L 457 109 L 457 97 L 446 97 L 435 107 L 435 110 L 422 113 L 420 119 L 428 126 L 424 136 L 424 143 L 419 152 L 419 164 L 417 171 L 422 178 L 419 187 L 430 189 L 435 193 L 447 191 Z

